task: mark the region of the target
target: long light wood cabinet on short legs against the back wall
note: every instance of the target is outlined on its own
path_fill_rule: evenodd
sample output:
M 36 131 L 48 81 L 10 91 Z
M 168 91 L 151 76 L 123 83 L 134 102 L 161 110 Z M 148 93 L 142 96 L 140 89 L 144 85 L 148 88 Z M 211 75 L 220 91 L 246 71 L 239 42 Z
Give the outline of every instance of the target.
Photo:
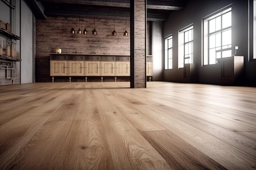
M 130 76 L 130 56 L 50 53 L 50 76 Z M 147 56 L 147 76 L 153 76 L 152 56 Z M 150 77 L 151 78 L 151 77 Z

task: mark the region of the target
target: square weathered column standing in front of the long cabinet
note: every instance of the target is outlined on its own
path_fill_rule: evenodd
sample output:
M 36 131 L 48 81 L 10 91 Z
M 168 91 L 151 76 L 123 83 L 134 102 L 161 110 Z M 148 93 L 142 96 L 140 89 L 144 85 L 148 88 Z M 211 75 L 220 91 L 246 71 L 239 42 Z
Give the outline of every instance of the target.
M 146 0 L 130 1 L 130 88 L 146 88 Z

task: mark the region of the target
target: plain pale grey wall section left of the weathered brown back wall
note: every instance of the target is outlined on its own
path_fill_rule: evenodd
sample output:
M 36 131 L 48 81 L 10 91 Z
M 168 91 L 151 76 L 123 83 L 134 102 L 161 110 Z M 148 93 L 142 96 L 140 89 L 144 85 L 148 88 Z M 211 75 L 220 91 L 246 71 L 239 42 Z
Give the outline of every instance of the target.
M 21 0 L 20 14 L 20 83 L 33 82 L 33 13 Z

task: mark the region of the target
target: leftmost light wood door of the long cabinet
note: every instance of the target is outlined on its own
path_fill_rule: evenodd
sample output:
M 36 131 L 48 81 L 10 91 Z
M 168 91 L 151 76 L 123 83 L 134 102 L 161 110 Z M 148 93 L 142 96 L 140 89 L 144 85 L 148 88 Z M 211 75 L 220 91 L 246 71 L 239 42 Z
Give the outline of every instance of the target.
M 50 67 L 51 76 L 66 76 L 67 75 L 67 61 L 51 60 Z

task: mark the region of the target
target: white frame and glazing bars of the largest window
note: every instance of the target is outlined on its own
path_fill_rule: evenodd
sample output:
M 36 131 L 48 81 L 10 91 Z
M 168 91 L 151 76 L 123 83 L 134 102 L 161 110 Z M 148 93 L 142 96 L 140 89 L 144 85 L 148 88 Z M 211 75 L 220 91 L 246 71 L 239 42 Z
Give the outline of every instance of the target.
M 233 4 L 233 3 L 232 3 Z M 213 20 L 214 18 L 217 18 L 219 16 L 221 16 L 222 18 L 222 15 L 228 13 L 231 11 L 231 18 L 232 18 L 232 8 L 231 8 L 231 5 L 232 4 L 229 4 L 228 6 L 214 12 L 214 13 L 211 13 L 210 15 L 204 17 L 202 19 L 202 66 L 204 65 L 210 65 L 210 56 L 209 56 L 209 35 L 213 35 L 214 33 L 216 32 L 220 32 L 221 33 L 221 50 L 218 51 L 218 52 L 223 52 L 223 51 L 227 51 L 227 50 L 231 50 L 232 48 L 232 44 L 231 47 L 229 48 L 226 48 L 226 49 L 222 49 L 222 32 L 224 31 L 227 31 L 229 29 L 231 29 L 231 38 L 232 38 L 232 24 L 231 26 L 228 26 L 224 29 L 222 29 L 222 26 L 221 26 L 221 29 L 218 30 L 218 31 L 215 31 L 213 33 L 209 33 L 209 21 L 210 20 Z M 221 19 L 221 24 L 222 24 L 222 19 Z M 222 57 L 222 54 L 221 54 L 221 57 Z M 217 61 L 215 61 L 215 63 L 211 63 L 211 64 L 217 64 Z

